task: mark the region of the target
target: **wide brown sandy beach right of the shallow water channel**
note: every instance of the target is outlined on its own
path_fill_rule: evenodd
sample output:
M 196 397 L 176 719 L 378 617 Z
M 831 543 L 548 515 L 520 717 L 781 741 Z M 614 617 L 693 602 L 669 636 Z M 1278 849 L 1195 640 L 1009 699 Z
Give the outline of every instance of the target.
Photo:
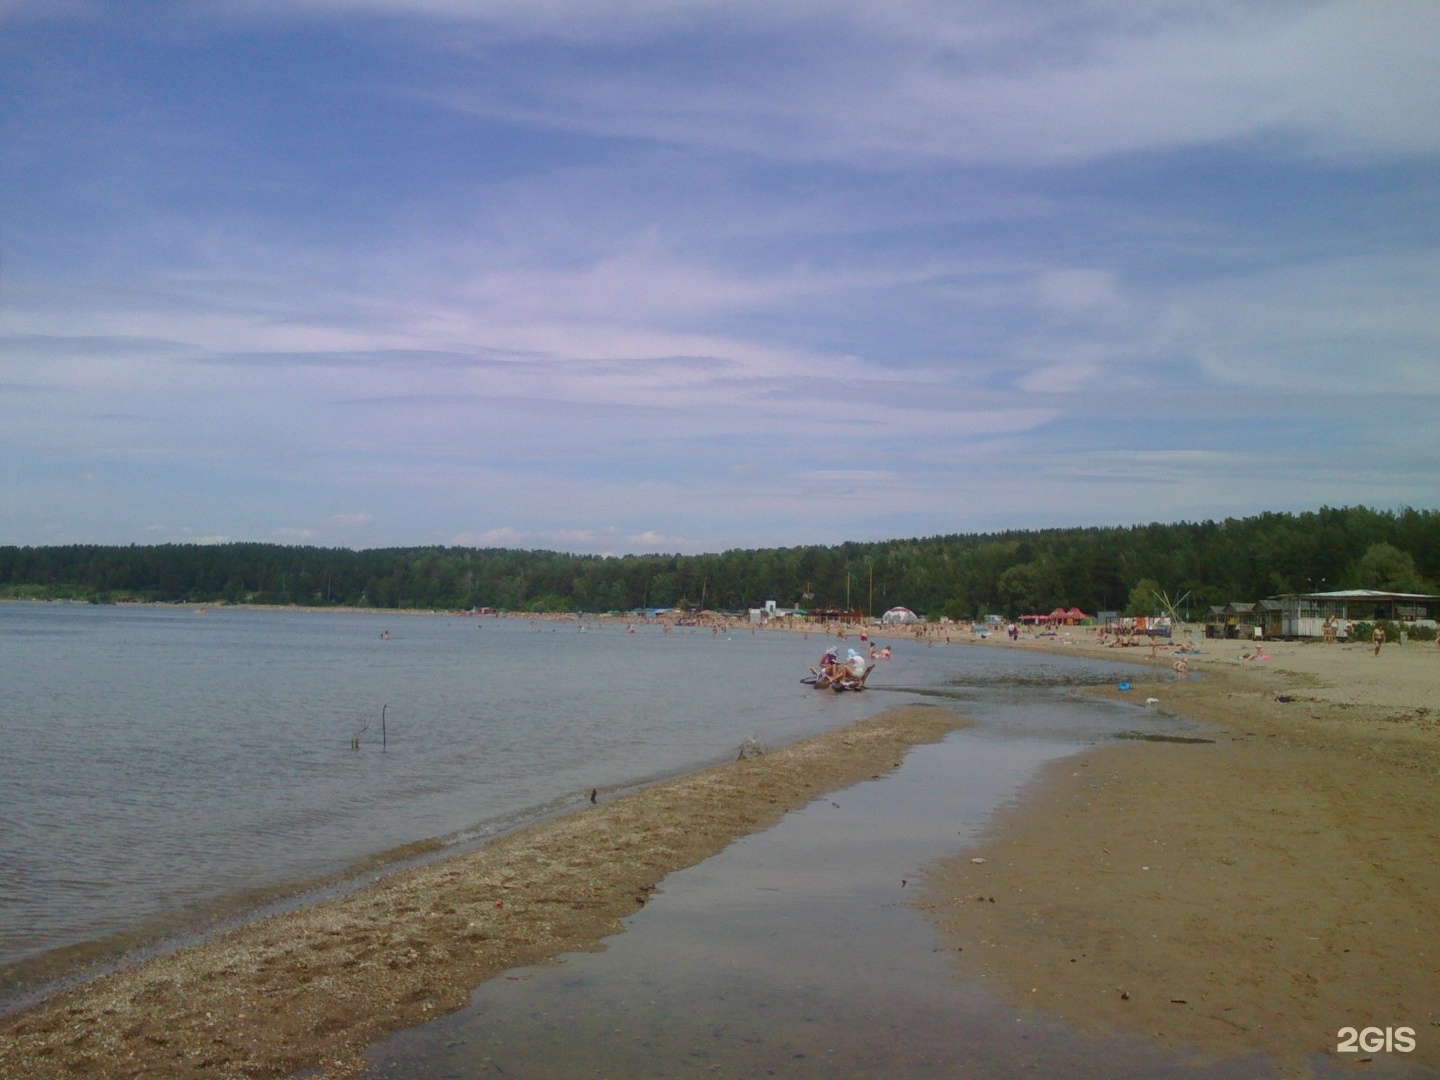
M 1058 648 L 1097 654 L 1074 638 Z M 1200 647 L 1204 678 L 1162 657 L 1128 697 L 1214 742 L 1056 762 L 929 874 L 962 976 L 1081 1030 L 1261 1051 L 1289 1074 L 1310 1054 L 1440 1066 L 1440 649 Z M 1338 1054 L 1344 1027 L 1410 1027 L 1416 1048 Z

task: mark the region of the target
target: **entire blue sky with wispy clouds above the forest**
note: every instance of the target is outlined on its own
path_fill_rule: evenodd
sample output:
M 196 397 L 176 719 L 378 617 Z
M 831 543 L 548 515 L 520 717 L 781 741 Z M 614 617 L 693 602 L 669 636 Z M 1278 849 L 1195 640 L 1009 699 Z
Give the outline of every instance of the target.
M 1434 0 L 0 0 L 0 544 L 1440 507 Z

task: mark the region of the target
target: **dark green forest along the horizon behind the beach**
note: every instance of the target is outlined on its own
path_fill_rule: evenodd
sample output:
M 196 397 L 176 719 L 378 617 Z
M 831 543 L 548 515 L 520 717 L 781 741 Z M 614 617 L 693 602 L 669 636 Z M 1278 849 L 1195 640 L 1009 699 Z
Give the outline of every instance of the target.
M 0 599 L 426 611 L 739 611 L 783 606 L 932 619 L 1153 611 L 1349 588 L 1434 592 L 1440 511 L 1322 507 L 1224 521 L 1015 530 L 719 554 L 593 556 L 468 547 L 264 543 L 0 547 Z

